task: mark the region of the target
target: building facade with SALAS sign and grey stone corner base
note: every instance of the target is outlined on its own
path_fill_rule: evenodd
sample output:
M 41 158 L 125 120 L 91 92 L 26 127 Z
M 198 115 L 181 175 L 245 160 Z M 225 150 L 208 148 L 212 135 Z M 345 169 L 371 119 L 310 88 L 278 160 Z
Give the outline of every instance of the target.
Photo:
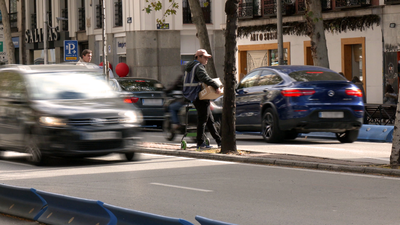
M 91 49 L 92 62 L 103 62 L 102 0 L 25 0 L 27 49 L 29 64 L 43 61 L 43 27 L 48 20 L 49 63 L 64 61 L 64 40 L 77 40 L 78 51 Z M 169 6 L 162 0 L 163 11 Z M 217 74 L 223 75 L 225 23 L 223 1 L 200 0 L 210 37 L 212 55 Z M 146 13 L 145 0 L 106 1 L 106 54 L 107 61 L 115 67 L 124 62 L 129 66 L 128 76 L 149 77 L 165 85 L 182 73 L 181 64 L 193 60 L 200 48 L 196 27 L 191 21 L 188 0 L 178 1 L 176 15 L 166 17 L 168 27 L 157 27 L 163 12 Z M 46 15 L 47 17 L 44 17 Z

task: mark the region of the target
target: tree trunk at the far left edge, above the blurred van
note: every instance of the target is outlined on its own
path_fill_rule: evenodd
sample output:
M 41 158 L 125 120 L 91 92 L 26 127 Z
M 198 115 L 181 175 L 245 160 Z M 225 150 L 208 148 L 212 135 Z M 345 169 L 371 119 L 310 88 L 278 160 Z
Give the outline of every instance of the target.
M 0 0 L 0 11 L 3 17 L 3 33 L 4 33 L 4 42 L 7 49 L 8 64 L 15 64 L 15 59 L 14 59 L 15 48 L 14 48 L 14 43 L 12 42 L 10 17 L 8 15 L 8 10 L 5 0 Z

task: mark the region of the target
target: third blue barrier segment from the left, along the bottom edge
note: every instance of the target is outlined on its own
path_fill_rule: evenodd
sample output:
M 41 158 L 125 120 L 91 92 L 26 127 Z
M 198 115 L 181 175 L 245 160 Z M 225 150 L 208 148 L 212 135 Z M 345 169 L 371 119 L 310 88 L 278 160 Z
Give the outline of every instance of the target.
M 104 207 L 117 217 L 117 225 L 194 225 L 184 219 L 125 209 L 109 204 L 104 204 Z

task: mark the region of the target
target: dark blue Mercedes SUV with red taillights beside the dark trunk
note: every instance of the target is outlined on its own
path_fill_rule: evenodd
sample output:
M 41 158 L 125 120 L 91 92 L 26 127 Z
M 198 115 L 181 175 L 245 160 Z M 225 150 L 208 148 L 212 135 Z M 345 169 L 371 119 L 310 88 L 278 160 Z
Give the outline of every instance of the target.
M 213 103 L 222 107 L 222 100 Z M 260 67 L 236 89 L 236 130 L 261 132 L 267 142 L 295 139 L 299 133 L 334 132 L 340 142 L 351 143 L 358 137 L 363 114 L 361 90 L 323 67 Z

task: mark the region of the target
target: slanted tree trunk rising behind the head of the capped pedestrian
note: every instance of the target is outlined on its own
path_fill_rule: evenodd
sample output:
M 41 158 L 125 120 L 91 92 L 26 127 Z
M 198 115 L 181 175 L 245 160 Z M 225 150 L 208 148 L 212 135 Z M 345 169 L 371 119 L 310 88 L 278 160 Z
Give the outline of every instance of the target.
M 199 0 L 189 0 L 189 7 L 190 11 L 192 12 L 192 21 L 196 25 L 197 35 L 200 41 L 200 48 L 203 48 L 212 54 L 210 40 L 208 38 L 208 31 L 204 21 L 203 10 L 201 9 Z M 206 70 L 210 77 L 218 77 L 213 58 L 208 60 Z

